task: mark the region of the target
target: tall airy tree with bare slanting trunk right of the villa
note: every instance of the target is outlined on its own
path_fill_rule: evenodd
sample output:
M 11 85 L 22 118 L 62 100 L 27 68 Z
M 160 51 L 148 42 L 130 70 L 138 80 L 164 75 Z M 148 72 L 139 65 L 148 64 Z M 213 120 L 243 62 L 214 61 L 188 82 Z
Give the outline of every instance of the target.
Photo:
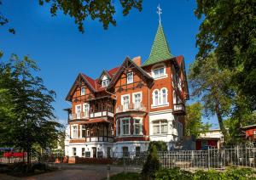
M 216 56 L 211 53 L 206 61 L 195 59 L 189 68 L 192 97 L 200 98 L 206 115 L 217 115 L 218 125 L 224 134 L 224 141 L 228 140 L 228 133 L 224 127 L 224 117 L 230 115 L 232 98 L 230 98 L 230 70 L 220 70 Z

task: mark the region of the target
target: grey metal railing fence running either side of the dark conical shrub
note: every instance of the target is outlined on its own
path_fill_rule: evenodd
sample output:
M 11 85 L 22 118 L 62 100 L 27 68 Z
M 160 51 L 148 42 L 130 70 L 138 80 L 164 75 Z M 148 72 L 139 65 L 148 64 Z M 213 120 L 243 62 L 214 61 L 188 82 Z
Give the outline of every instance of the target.
M 116 156 L 123 160 L 125 171 L 140 172 L 147 155 L 130 152 Z M 227 166 L 256 167 L 256 148 L 177 150 L 158 153 L 158 157 L 164 168 L 224 170 Z

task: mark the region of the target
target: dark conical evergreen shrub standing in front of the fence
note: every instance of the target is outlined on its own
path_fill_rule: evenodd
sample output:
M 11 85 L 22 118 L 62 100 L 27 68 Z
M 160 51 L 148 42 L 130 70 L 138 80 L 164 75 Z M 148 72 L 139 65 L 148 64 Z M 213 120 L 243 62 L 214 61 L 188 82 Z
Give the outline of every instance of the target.
M 142 176 L 146 179 L 154 178 L 154 172 L 160 169 L 160 160 L 158 159 L 155 145 L 151 145 L 145 164 L 143 165 Z

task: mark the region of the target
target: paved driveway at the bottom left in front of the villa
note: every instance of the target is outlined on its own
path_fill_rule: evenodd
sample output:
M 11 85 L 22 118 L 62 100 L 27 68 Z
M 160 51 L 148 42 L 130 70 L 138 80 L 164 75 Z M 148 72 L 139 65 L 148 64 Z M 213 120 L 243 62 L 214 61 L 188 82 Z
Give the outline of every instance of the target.
M 19 178 L 0 174 L 1 180 L 101 180 L 107 177 L 106 165 L 69 165 L 62 164 L 61 170 L 39 174 L 37 176 Z M 110 166 L 110 175 L 123 172 L 121 166 Z

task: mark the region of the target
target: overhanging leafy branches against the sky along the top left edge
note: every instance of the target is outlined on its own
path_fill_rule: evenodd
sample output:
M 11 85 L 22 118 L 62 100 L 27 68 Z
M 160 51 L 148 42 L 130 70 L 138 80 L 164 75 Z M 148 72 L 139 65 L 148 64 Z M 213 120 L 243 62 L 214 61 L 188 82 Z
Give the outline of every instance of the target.
M 74 22 L 79 27 L 79 31 L 84 32 L 84 20 L 99 20 L 104 29 L 108 29 L 108 25 L 116 25 L 116 20 L 113 15 L 116 12 L 116 4 L 112 0 L 39 0 L 41 6 L 48 3 L 50 6 L 49 12 L 52 16 L 56 16 L 58 10 L 65 15 L 69 15 L 74 19 Z M 137 8 L 142 11 L 143 0 L 119 0 L 123 8 L 123 15 L 129 14 L 131 8 Z M 2 0 L 0 0 L 2 5 Z M 0 13 L 0 25 L 6 25 L 9 20 Z M 15 33 L 13 28 L 10 32 Z

